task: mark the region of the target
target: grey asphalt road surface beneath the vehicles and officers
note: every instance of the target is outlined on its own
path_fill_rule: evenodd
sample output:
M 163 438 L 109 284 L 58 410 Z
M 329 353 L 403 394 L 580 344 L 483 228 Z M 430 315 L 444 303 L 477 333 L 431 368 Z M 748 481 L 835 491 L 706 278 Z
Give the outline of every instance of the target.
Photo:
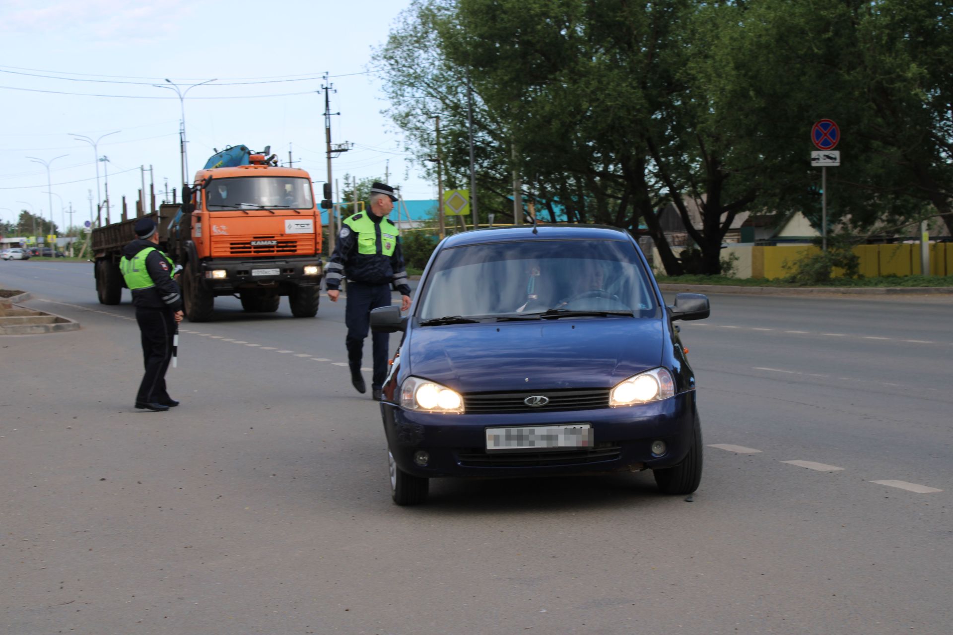
M 86 264 L 0 285 L 83 325 L 0 338 L 2 633 L 953 632 L 948 299 L 712 295 L 681 327 L 692 502 L 640 473 L 402 508 L 335 366 L 343 303 L 216 300 L 182 327 L 182 406 L 152 413 L 128 295 L 97 304 Z

